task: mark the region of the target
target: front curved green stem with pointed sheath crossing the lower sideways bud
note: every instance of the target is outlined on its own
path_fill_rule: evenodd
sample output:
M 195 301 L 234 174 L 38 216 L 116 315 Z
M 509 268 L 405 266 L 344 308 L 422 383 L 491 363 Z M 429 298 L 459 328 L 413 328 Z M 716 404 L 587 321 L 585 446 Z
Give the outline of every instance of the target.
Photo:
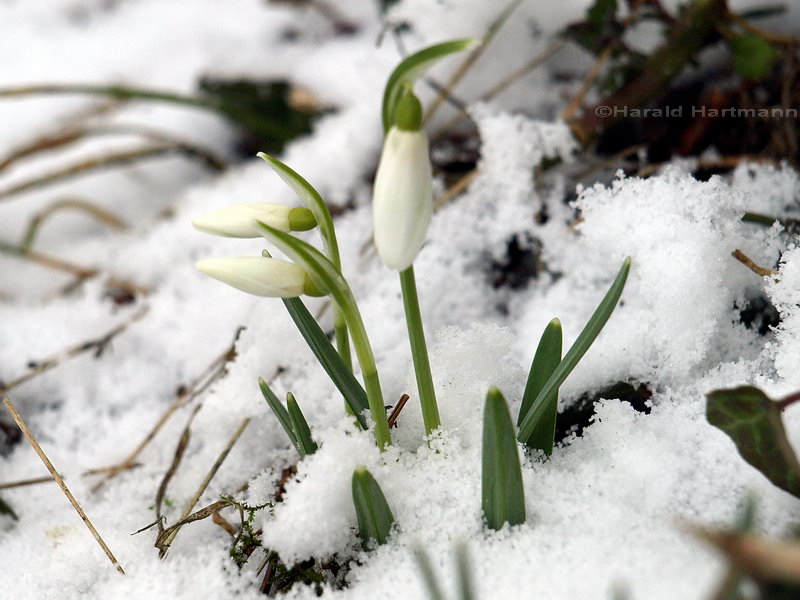
M 386 420 L 375 357 L 372 354 L 366 328 L 350 286 L 335 265 L 310 244 L 278 231 L 261 221 L 258 222 L 258 226 L 265 238 L 306 270 L 319 289 L 328 291 L 342 311 L 347 328 L 353 337 L 356 356 L 364 375 L 367 403 L 372 419 L 375 421 L 375 439 L 380 448 L 385 448 L 392 443 L 392 438 Z

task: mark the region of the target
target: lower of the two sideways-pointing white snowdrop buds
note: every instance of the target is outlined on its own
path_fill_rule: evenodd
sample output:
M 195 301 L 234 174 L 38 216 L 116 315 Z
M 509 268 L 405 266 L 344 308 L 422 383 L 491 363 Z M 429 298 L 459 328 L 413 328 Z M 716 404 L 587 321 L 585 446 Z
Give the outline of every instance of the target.
M 302 294 L 324 295 L 302 267 L 277 258 L 209 258 L 195 263 L 195 267 L 201 273 L 256 296 L 294 298 Z

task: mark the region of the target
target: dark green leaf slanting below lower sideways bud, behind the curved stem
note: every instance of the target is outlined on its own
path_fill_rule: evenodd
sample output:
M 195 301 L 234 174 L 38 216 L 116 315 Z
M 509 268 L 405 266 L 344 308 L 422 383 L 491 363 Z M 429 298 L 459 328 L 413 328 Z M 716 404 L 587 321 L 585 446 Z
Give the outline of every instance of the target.
M 353 372 L 342 361 L 342 357 L 331 344 L 328 336 L 312 316 L 300 298 L 284 298 L 283 303 L 292 317 L 297 329 L 306 340 L 308 347 L 317 357 L 319 364 L 325 369 L 328 377 L 344 396 L 345 402 L 353 411 L 362 429 L 367 428 L 363 412 L 369 408 L 367 394 L 353 375 Z

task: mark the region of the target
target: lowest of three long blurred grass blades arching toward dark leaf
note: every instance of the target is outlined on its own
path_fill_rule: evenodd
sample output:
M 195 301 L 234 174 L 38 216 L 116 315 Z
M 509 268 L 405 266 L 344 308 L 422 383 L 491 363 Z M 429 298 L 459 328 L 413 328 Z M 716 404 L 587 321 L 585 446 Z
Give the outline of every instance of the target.
M 0 191 L 0 201 L 8 200 L 9 198 L 17 196 L 23 192 L 61 183 L 85 173 L 91 173 L 112 167 L 126 166 L 132 163 L 137 163 L 140 160 L 159 158 L 161 156 L 170 154 L 180 154 L 186 156 L 187 158 L 201 159 L 206 166 L 211 166 L 208 164 L 206 157 L 198 155 L 193 148 L 176 144 L 158 144 L 145 148 L 137 148 L 135 150 L 127 150 L 125 152 L 117 152 L 115 154 L 107 154 L 106 156 L 99 158 L 83 160 L 62 169 L 57 169 L 55 171 L 46 173 L 41 177 L 23 181 L 22 183 L 18 183 Z M 212 168 L 219 170 L 216 166 Z

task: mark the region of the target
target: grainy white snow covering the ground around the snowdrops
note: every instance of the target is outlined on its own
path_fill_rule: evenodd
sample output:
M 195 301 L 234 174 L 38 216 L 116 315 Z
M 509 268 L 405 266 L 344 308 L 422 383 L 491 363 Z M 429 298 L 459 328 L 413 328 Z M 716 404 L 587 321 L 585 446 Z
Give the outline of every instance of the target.
M 204 235 L 191 218 L 229 204 L 296 204 L 259 159 L 212 176 L 180 158 L 103 172 L 57 187 L 0 198 L 0 240 L 16 243 L 32 215 L 50 202 L 89 199 L 127 224 L 112 231 L 85 215 L 64 212 L 43 226 L 34 248 L 101 274 L 70 293 L 71 278 L 0 254 L 0 380 L 8 383 L 41 360 L 144 316 L 104 351 L 65 360 L 9 395 L 75 496 L 124 566 L 106 561 L 52 483 L 2 490 L 18 521 L 0 516 L 0 596 L 49 598 L 258 598 L 254 556 L 242 570 L 230 560 L 230 537 L 210 520 L 181 530 L 165 560 L 153 547 L 156 489 L 169 467 L 191 407 L 182 409 L 145 449 L 141 466 L 97 493 L 82 474 L 121 461 L 175 398 L 179 386 L 225 351 L 239 326 L 236 359 L 202 396 L 191 441 L 167 496 L 175 521 L 242 421 L 252 420 L 198 507 L 233 494 L 251 505 L 269 501 L 281 471 L 296 461 L 285 433 L 256 383 L 292 391 L 320 449 L 301 461 L 274 511 L 258 513 L 265 546 L 287 563 L 309 557 L 350 562 L 348 585 L 331 598 L 425 598 L 415 548 L 455 590 L 454 556 L 467 544 L 478 598 L 600 599 L 626 590 L 632 599 L 707 598 L 724 563 L 684 532 L 685 523 L 733 523 L 748 494 L 758 498 L 758 527 L 783 533 L 800 505 L 745 464 L 731 441 L 705 420 L 704 393 L 749 383 L 772 396 L 800 388 L 800 250 L 777 228 L 742 223 L 745 211 L 800 215 L 800 176 L 789 167 L 741 165 L 725 178 L 699 182 L 679 165 L 648 179 L 624 178 L 582 189 L 563 203 L 562 170 L 534 184 L 545 157 L 570 160 L 574 142 L 555 117 L 575 84 L 557 84 L 559 68 L 590 64 L 566 49 L 506 94 L 470 112 L 481 139 L 480 173 L 468 190 L 434 216 L 416 261 L 431 346 L 443 431 L 425 444 L 396 275 L 367 247 L 370 177 L 382 142 L 383 85 L 399 59 L 390 36 L 376 46 L 382 21 L 376 2 L 334 3 L 358 25 L 337 36 L 331 23 L 290 3 L 235 0 L 58 0 L 0 2 L 3 68 L 0 86 L 42 82 L 124 82 L 194 91 L 203 75 L 286 77 L 336 112 L 314 133 L 290 144 L 282 159 L 335 206 L 344 272 L 376 353 L 384 396 L 412 401 L 380 454 L 370 434 L 344 418 L 341 398 L 304 345 L 281 303 L 256 298 L 197 273 L 200 258 L 257 254 L 259 240 Z M 409 49 L 479 36 L 496 3 L 406 0 L 388 18 L 406 20 Z M 758 2 L 733 3 L 734 6 Z M 549 33 L 583 14 L 588 2 L 523 2 L 457 90 L 471 99 L 550 41 Z M 797 6 L 782 25 L 798 22 Z M 292 35 L 287 33 L 291 31 Z M 537 31 L 535 35 L 532 31 Z M 454 61 L 434 74 L 446 78 Z M 424 86 L 423 100 L 433 93 Z M 0 99 L 0 157 L 52 132 L 96 100 L 80 97 Z M 515 112 L 525 107 L 525 116 Z M 207 113 L 130 103 L 106 123 L 138 124 L 231 153 L 234 133 Z M 444 123 L 447 114 L 439 117 Z M 0 172 L 0 189 L 63 166 L 130 148 L 133 138 L 94 138 Z M 437 182 L 438 189 L 443 187 Z M 534 215 L 547 207 L 549 220 Z M 518 235 L 541 240 L 547 273 L 522 289 L 495 288 L 491 265 Z M 311 232 L 307 239 L 316 238 Z M 731 257 L 741 249 L 772 266 L 778 280 L 759 278 Z M 787 251 L 788 250 L 788 251 Z M 618 381 L 647 384 L 649 414 L 602 401 L 581 437 L 546 461 L 524 459 L 528 522 L 487 533 L 480 509 L 482 407 L 498 386 L 516 414 L 527 366 L 546 323 L 558 316 L 570 344 L 592 313 L 622 259 L 633 268 L 606 329 L 562 387 L 566 406 Z M 107 294 L 109 278 L 149 288 L 134 304 Z M 746 299 L 765 296 L 781 324 L 759 335 L 739 321 Z M 310 302 L 320 307 L 320 301 Z M 323 317 L 326 327 L 329 311 Z M 787 429 L 800 443 L 800 414 Z M 3 417 L 8 420 L 7 416 Z M 377 550 L 355 537 L 350 476 L 370 468 L 392 506 L 398 528 Z M 44 475 L 24 442 L 0 456 L 0 483 Z M 239 492 L 245 484 L 246 491 Z M 223 514 L 236 521 L 235 513 Z M 291 598 L 315 597 L 295 586 Z

